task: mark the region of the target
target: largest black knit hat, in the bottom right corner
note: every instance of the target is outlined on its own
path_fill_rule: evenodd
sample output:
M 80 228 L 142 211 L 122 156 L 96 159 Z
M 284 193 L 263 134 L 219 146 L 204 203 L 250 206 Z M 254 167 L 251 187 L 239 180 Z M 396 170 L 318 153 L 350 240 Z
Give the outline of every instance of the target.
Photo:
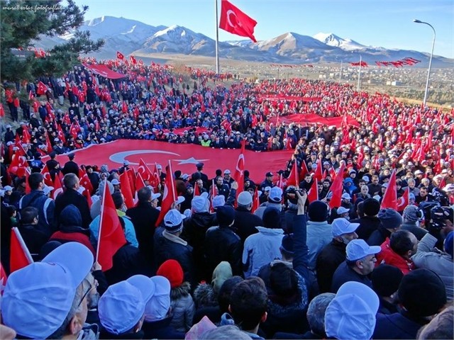
M 411 271 L 402 278 L 398 294 L 399 301 L 415 317 L 436 314 L 446 303 L 443 281 L 433 271 L 423 268 Z

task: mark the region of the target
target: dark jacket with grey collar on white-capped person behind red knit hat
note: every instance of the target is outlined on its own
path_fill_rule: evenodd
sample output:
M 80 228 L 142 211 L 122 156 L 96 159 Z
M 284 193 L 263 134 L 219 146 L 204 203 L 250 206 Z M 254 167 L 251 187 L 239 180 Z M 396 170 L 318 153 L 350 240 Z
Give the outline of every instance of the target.
M 155 265 L 156 268 L 167 260 L 174 259 L 182 266 L 184 280 L 195 287 L 195 267 L 192 257 L 192 246 L 183 239 L 167 233 L 164 228 L 156 229 L 155 233 Z

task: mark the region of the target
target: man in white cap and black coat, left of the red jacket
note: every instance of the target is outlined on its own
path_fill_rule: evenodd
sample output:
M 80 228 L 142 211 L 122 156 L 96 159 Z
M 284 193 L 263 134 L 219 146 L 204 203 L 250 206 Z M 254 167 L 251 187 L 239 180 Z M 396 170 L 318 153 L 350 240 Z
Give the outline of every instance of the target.
M 322 249 L 316 260 L 320 293 L 331 291 L 334 272 L 345 261 L 345 247 L 353 239 L 358 239 L 355 232 L 358 223 L 350 223 L 345 218 L 336 218 L 331 227 L 333 229 L 333 241 Z

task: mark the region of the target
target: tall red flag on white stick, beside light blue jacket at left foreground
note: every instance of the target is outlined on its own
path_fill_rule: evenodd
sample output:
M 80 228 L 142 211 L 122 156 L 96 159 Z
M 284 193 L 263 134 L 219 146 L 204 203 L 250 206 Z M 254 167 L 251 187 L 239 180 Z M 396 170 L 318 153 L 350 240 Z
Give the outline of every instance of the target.
M 96 261 L 101 264 L 103 271 L 112 268 L 114 265 L 112 258 L 118 249 L 126 244 L 125 234 L 116 213 L 114 200 L 107 188 L 106 184 L 102 194 L 98 248 L 96 249 Z

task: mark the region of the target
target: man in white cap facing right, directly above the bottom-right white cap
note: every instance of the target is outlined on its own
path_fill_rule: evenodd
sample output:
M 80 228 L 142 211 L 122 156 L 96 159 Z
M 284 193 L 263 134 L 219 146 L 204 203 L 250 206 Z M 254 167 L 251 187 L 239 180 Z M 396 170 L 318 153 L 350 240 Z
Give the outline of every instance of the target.
M 336 293 L 344 283 L 356 281 L 372 288 L 372 281 L 368 277 L 375 268 L 380 253 L 380 246 L 369 246 L 364 239 L 353 239 L 347 244 L 345 261 L 341 263 L 333 274 L 331 293 Z

